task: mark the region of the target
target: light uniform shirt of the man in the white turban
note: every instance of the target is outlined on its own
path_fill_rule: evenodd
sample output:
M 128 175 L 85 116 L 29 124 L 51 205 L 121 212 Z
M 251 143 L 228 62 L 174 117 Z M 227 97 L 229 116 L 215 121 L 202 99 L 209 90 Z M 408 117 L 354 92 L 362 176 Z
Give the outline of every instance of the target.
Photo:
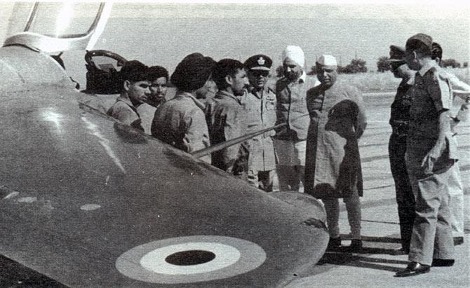
M 277 124 L 288 123 L 276 130 L 276 138 L 283 140 L 305 140 L 309 129 L 307 90 L 318 85 L 314 78 L 307 78 L 305 71 L 297 81 L 281 78 L 276 82 Z

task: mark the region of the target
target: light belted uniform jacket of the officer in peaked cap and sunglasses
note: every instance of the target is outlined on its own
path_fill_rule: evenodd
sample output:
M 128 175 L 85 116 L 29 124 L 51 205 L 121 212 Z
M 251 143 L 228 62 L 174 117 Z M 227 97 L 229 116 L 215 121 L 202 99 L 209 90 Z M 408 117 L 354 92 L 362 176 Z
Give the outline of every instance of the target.
M 255 89 L 243 97 L 246 110 L 246 134 L 257 132 L 276 124 L 276 95 L 270 88 Z M 274 144 L 271 139 L 276 132 L 271 130 L 250 140 L 248 170 L 269 171 L 276 168 Z

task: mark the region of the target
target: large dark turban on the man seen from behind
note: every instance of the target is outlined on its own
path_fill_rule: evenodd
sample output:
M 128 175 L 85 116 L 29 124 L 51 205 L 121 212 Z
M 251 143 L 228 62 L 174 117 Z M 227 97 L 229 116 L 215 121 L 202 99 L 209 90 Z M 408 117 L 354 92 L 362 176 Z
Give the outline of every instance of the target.
M 201 53 L 189 54 L 177 64 L 170 81 L 186 92 L 198 90 L 208 81 L 215 63 L 211 57 L 204 57 Z

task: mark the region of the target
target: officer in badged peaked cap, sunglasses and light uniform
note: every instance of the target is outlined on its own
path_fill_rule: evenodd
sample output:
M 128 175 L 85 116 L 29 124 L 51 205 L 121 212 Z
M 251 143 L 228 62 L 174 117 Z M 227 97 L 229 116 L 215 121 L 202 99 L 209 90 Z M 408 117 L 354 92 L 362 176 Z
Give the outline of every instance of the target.
M 243 102 L 247 112 L 247 133 L 274 126 L 276 123 L 276 94 L 268 87 L 272 60 L 266 55 L 254 55 L 245 61 L 250 87 Z M 264 191 L 273 190 L 276 171 L 273 137 L 274 130 L 250 140 L 248 181 Z

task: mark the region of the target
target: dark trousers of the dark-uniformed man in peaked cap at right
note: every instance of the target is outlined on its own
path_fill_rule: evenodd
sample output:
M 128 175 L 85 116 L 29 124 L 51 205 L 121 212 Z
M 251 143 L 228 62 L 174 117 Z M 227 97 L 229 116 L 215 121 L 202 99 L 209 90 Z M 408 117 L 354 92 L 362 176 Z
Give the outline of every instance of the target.
M 391 174 L 395 181 L 396 203 L 400 219 L 401 247 L 410 251 L 410 240 L 415 221 L 415 197 L 405 163 L 406 136 L 392 134 L 389 141 Z

